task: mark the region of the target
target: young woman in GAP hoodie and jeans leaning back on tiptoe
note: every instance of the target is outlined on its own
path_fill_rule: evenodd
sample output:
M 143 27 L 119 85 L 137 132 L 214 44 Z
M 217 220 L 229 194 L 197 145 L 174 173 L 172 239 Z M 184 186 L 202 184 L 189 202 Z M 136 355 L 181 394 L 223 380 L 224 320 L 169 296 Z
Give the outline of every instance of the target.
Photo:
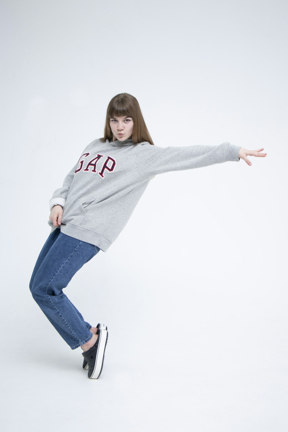
M 71 349 L 81 346 L 88 378 L 101 374 L 107 326 L 84 321 L 63 288 L 100 250 L 108 250 L 155 175 L 240 159 L 251 165 L 247 156 L 264 157 L 262 150 L 228 142 L 154 146 L 137 99 L 128 93 L 111 99 L 104 137 L 85 147 L 50 200 L 51 232 L 30 281 L 33 298 L 60 336 Z

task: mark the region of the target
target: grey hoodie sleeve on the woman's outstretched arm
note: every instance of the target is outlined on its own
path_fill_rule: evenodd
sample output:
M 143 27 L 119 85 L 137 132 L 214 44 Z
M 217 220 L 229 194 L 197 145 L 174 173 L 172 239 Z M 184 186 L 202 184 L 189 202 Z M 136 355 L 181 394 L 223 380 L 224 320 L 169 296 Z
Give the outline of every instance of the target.
M 158 147 L 147 142 L 136 146 L 136 163 L 140 174 L 150 178 L 156 174 L 201 168 L 227 161 L 239 162 L 241 146 L 228 142 L 219 146 Z

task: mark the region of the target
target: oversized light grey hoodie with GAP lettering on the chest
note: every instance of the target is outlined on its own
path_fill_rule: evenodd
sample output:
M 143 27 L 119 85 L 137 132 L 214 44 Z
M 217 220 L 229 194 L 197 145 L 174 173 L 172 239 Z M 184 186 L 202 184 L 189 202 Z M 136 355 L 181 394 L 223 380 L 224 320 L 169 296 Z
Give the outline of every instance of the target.
M 106 252 L 127 224 L 136 204 L 156 174 L 200 168 L 227 161 L 239 162 L 241 146 L 158 147 L 144 141 L 133 144 L 98 138 L 66 175 L 63 187 L 49 202 L 63 207 L 61 232 L 97 245 Z

